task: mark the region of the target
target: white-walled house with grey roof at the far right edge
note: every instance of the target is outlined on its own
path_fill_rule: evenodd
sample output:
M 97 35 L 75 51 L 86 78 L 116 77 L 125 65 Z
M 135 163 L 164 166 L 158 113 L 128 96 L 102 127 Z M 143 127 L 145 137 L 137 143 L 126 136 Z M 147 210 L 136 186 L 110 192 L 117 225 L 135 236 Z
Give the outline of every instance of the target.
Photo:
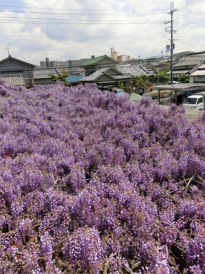
M 205 61 L 195 66 L 186 74 L 190 83 L 205 83 Z

